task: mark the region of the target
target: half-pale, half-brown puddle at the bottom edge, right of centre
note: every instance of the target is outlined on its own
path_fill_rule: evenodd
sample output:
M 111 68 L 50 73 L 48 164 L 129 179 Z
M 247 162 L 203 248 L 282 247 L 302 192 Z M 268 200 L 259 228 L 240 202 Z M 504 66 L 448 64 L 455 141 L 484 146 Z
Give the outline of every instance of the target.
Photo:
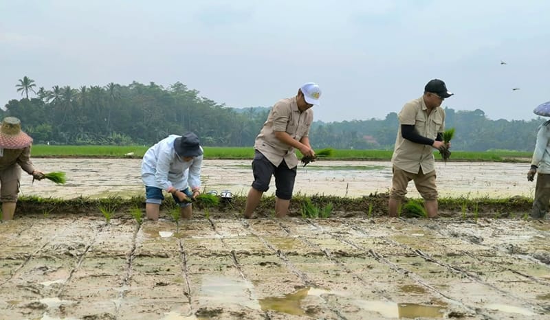
M 391 301 L 355 300 L 355 304 L 367 311 L 377 312 L 384 318 L 443 318 L 445 308 L 421 304 L 397 304 Z

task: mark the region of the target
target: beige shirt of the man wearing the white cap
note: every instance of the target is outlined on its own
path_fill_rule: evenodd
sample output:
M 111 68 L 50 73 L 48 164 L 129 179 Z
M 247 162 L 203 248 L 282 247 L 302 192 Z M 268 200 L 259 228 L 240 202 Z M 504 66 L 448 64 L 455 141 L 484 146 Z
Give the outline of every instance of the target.
M 288 168 L 298 165 L 298 157 L 294 147 L 277 139 L 275 131 L 285 131 L 293 139 L 300 141 L 308 137 L 311 122 L 314 121 L 314 112 L 311 108 L 300 112 L 296 97 L 282 99 L 276 102 L 263 124 L 260 134 L 256 137 L 254 148 L 261 152 L 267 160 L 277 166 L 283 162 Z

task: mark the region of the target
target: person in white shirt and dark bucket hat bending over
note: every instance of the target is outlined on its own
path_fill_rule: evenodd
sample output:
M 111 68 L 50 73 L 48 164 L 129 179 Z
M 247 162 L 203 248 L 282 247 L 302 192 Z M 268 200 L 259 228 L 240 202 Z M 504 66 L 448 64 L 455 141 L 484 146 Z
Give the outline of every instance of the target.
M 200 194 L 203 149 L 195 133 L 170 135 L 149 148 L 142 161 L 145 185 L 145 212 L 158 220 L 162 191 L 172 194 L 181 209 L 181 217 L 192 216 L 191 199 Z

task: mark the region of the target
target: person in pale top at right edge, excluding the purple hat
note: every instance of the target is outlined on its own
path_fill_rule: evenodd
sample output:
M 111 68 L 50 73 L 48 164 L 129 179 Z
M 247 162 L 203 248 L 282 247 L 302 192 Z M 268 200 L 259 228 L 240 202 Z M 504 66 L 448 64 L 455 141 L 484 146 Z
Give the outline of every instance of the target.
M 550 202 L 550 120 L 538 128 L 535 150 L 531 159 L 531 169 L 527 172 L 527 181 L 533 181 L 537 174 L 535 198 L 531 218 L 543 219 L 548 212 Z

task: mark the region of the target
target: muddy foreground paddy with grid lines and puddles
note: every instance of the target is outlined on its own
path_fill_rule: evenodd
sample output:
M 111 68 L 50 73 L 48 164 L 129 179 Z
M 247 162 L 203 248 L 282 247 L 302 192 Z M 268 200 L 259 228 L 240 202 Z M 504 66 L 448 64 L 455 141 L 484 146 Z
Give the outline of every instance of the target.
M 0 319 L 550 319 L 550 223 L 0 223 Z

